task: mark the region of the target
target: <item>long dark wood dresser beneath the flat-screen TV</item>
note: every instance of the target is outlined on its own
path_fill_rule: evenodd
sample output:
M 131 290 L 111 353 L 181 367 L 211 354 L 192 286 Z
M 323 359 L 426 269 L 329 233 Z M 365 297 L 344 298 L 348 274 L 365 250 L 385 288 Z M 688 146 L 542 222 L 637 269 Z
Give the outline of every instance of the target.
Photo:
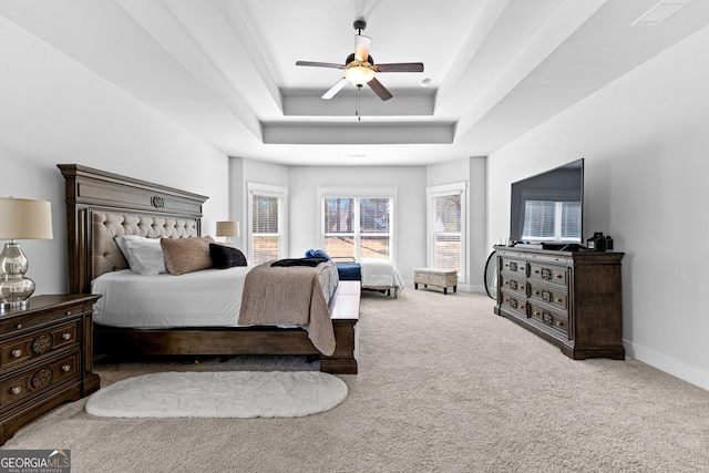
M 625 359 L 623 253 L 495 246 L 497 305 L 504 316 L 573 359 Z

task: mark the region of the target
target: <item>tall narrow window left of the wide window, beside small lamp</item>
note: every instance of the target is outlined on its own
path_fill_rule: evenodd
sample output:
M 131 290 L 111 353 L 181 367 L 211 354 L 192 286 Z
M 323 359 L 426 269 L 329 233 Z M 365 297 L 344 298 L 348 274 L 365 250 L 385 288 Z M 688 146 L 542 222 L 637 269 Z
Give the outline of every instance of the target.
M 261 264 L 286 253 L 286 197 L 284 187 L 249 183 L 249 260 Z

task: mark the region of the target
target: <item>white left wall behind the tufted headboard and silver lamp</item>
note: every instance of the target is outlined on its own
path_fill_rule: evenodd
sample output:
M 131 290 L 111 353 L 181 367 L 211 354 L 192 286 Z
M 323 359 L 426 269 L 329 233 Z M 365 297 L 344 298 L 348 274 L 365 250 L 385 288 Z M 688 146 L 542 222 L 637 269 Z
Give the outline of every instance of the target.
M 228 212 L 227 157 L 0 17 L 0 195 L 51 200 L 54 239 L 21 241 L 35 294 L 64 292 L 64 179 L 76 163 L 209 196 Z

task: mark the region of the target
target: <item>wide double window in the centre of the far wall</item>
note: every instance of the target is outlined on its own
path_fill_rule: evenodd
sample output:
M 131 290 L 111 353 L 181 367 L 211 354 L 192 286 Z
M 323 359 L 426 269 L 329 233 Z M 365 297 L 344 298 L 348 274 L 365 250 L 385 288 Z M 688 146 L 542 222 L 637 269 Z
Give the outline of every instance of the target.
M 391 189 L 320 189 L 322 249 L 357 261 L 393 260 L 393 195 Z

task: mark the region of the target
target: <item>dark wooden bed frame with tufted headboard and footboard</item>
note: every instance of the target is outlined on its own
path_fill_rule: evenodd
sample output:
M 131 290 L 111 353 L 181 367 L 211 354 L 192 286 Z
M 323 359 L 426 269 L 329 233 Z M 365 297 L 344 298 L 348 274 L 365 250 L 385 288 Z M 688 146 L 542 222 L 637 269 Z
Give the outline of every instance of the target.
M 208 198 L 175 188 L 76 164 L 58 164 L 65 179 L 69 286 L 90 294 L 91 280 L 127 268 L 113 237 L 202 235 L 202 205 Z M 105 216 L 114 217 L 113 227 Z M 110 234 L 107 235 L 106 232 Z M 106 235 L 109 237 L 106 237 Z M 356 287 L 354 287 L 356 286 Z M 320 370 L 357 373 L 360 288 L 342 281 L 330 308 L 335 353 L 320 353 L 300 328 L 276 327 L 124 329 L 94 323 L 94 353 L 123 357 L 154 354 L 319 356 Z

